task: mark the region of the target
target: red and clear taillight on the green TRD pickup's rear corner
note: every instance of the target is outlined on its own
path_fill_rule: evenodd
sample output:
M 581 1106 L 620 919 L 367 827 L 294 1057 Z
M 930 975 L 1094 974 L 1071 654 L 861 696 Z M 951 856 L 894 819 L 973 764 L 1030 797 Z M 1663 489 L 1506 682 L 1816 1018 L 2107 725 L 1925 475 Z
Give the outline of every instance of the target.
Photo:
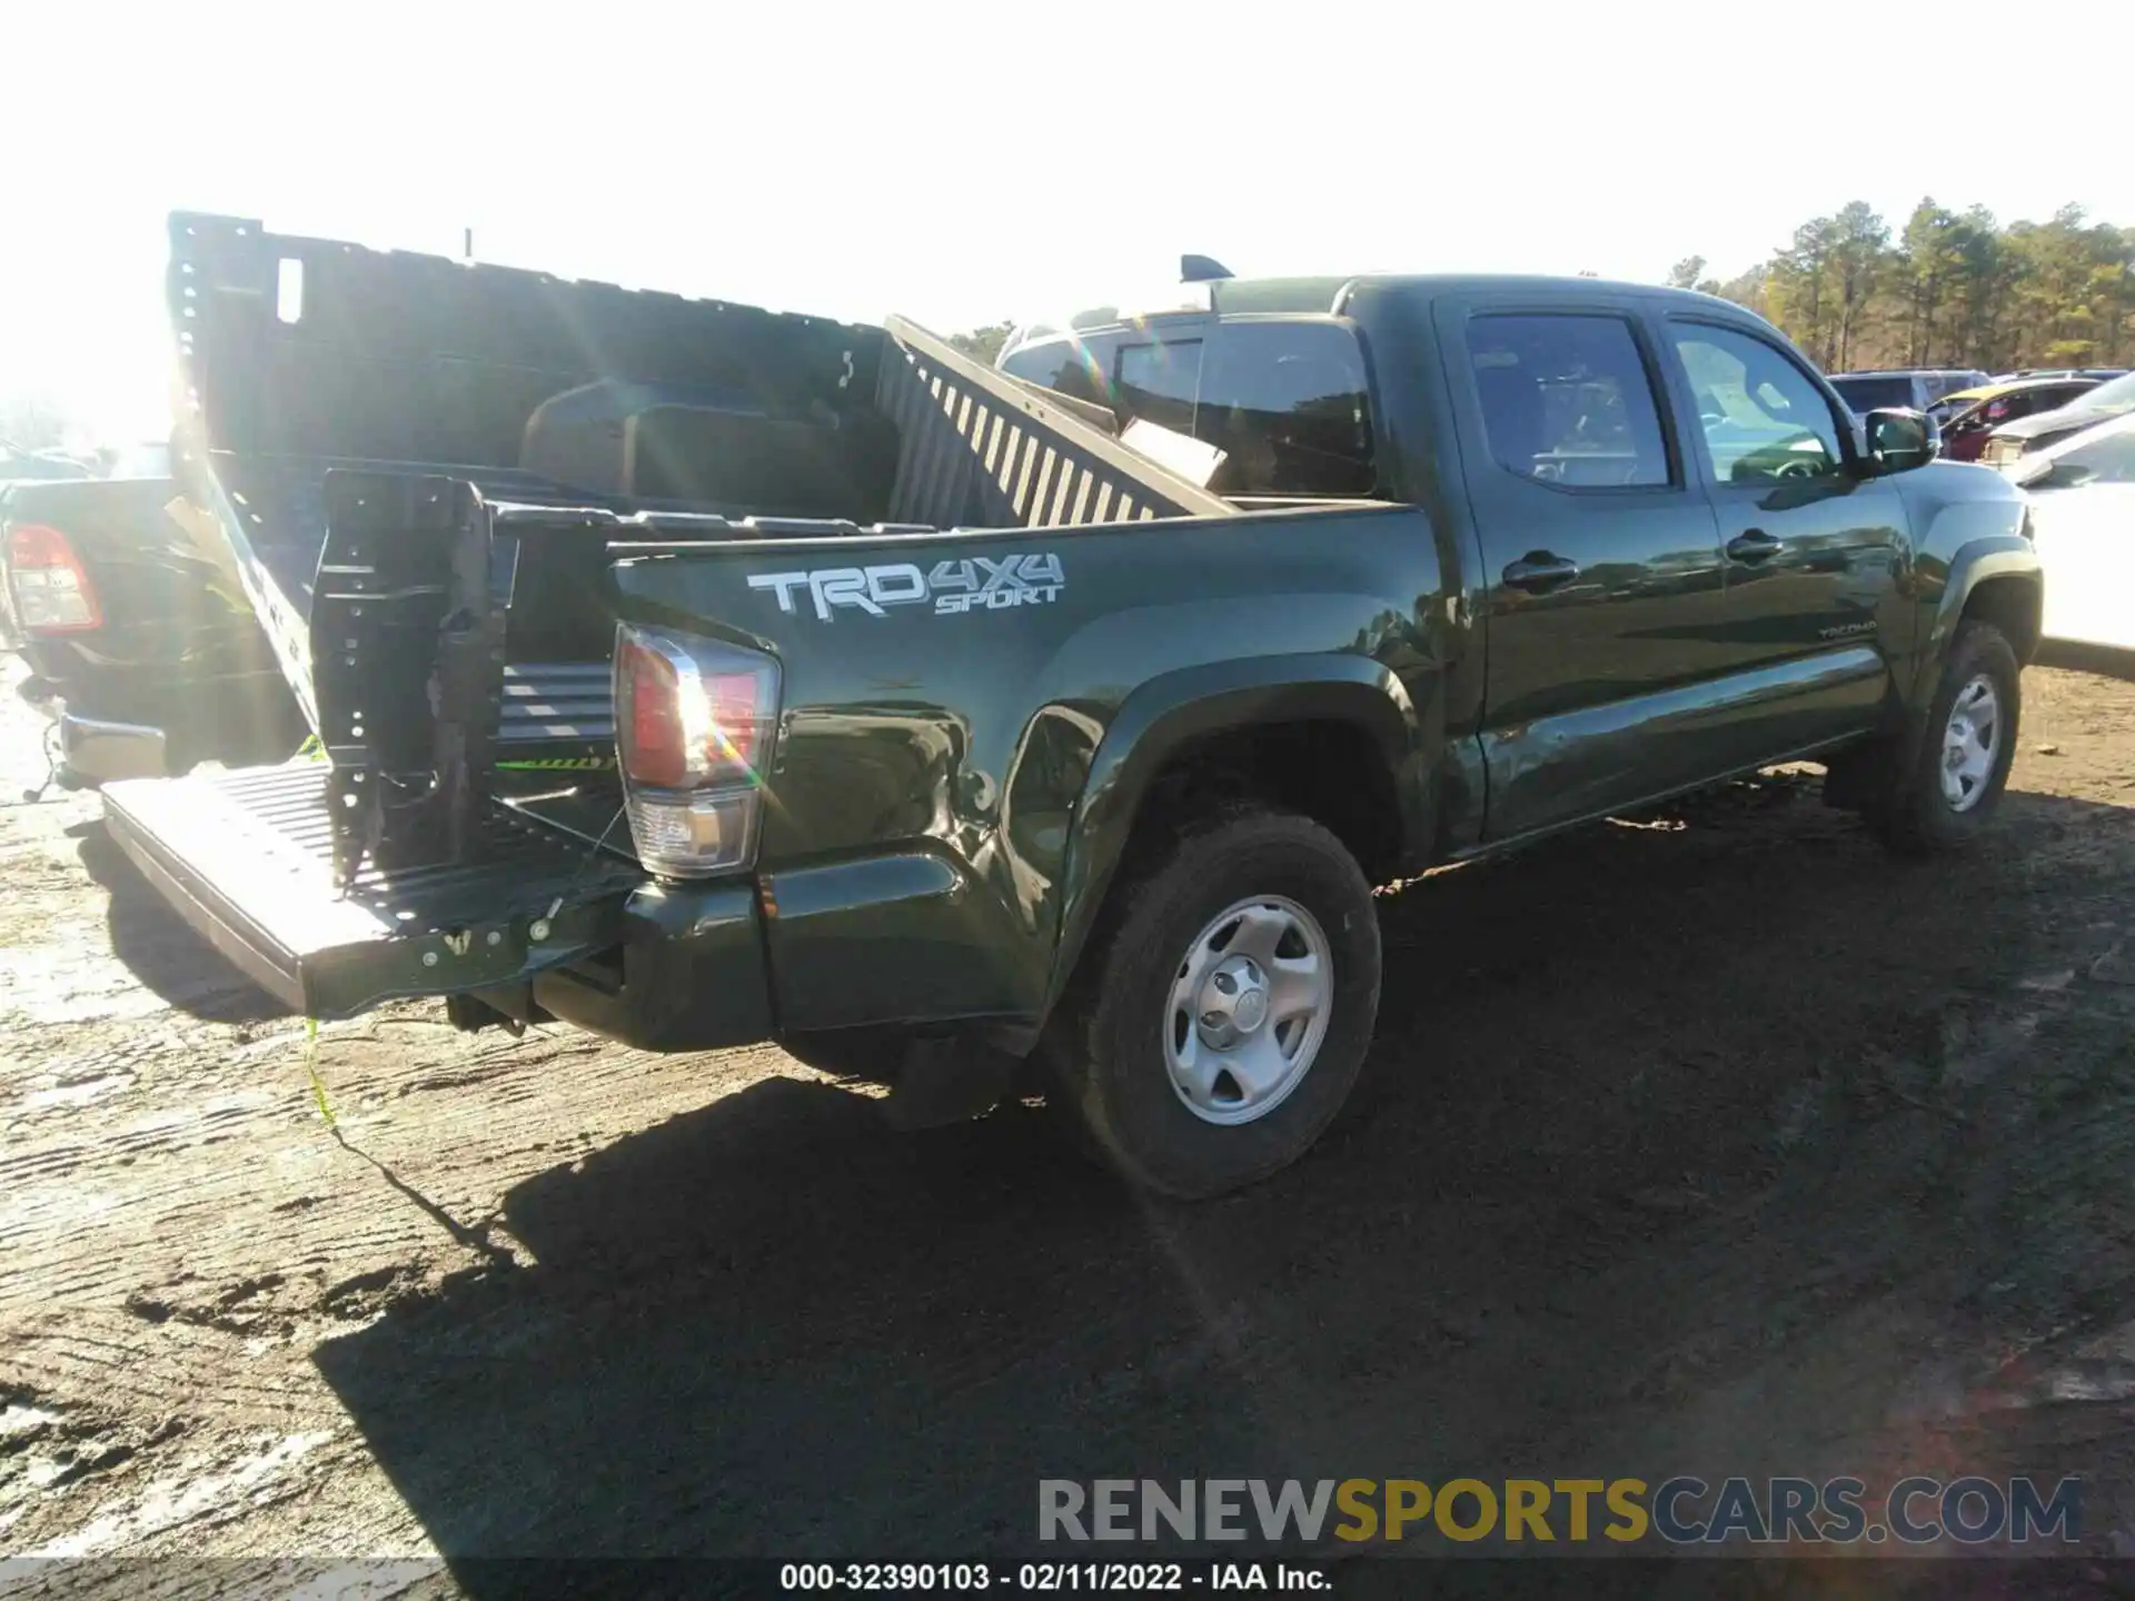
M 756 858 L 777 715 L 779 664 L 762 651 L 617 628 L 615 734 L 638 860 L 707 877 Z

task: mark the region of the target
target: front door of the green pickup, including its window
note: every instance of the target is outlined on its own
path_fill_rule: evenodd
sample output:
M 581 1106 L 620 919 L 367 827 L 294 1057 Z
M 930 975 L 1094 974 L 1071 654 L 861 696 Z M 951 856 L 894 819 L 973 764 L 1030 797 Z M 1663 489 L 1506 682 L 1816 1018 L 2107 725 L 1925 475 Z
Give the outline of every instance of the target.
M 1744 766 L 1877 724 L 1911 647 L 1911 525 L 1892 478 L 1853 470 L 1851 418 L 1755 329 L 1670 316 L 1670 382 L 1697 416 L 1727 581 L 1714 636 L 1738 715 L 1714 756 Z

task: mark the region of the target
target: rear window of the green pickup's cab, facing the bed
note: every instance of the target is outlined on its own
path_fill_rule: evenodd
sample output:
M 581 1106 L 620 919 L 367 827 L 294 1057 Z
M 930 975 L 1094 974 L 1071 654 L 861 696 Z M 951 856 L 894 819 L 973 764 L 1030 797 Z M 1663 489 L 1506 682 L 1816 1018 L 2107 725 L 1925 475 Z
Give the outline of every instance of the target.
M 1018 378 L 1191 433 L 1223 453 L 1219 495 L 1364 497 L 1377 489 L 1364 352 L 1337 322 L 1106 331 L 1001 363 Z

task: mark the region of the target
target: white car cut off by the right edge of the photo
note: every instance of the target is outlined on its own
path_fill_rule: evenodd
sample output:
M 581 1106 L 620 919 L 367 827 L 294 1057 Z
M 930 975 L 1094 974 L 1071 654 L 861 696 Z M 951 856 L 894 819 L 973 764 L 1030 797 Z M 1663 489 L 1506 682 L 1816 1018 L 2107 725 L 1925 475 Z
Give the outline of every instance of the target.
M 2007 470 L 2045 566 L 2045 638 L 2135 651 L 2135 412 Z

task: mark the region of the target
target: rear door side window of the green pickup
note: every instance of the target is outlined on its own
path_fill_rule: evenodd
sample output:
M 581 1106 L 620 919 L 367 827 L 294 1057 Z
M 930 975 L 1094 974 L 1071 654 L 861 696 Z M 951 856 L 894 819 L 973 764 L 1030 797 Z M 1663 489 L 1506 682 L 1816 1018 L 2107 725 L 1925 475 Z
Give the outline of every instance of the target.
M 1484 438 L 1501 467 L 1573 489 L 1665 485 L 1667 444 L 1631 324 L 1616 316 L 1475 316 Z

